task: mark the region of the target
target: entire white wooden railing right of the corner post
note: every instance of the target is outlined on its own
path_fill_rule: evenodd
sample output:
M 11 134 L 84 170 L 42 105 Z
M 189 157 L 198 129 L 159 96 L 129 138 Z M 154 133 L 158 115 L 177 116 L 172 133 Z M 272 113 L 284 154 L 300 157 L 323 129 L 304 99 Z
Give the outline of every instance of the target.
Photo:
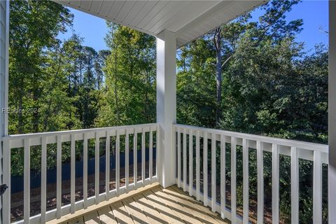
M 204 205 L 210 206 L 212 211 L 220 213 L 222 218 L 230 219 L 232 223 L 248 223 L 249 149 L 255 149 L 257 153 L 258 223 L 263 223 L 264 218 L 263 152 L 267 151 L 272 153 L 272 223 L 279 223 L 279 155 L 290 156 L 291 223 L 299 223 L 299 158 L 313 161 L 313 221 L 314 223 L 322 223 L 322 165 L 328 164 L 328 146 L 187 125 L 174 125 L 174 133 L 174 141 L 176 141 L 175 153 L 177 153 L 177 185 L 183 187 L 183 190 L 188 191 L 189 194 L 195 196 L 197 200 L 201 200 Z M 208 144 L 208 139 L 211 139 L 211 144 Z M 200 155 L 200 141 L 201 145 L 203 143 L 203 156 Z M 225 172 L 221 172 L 221 202 L 216 202 L 216 151 L 220 148 L 220 170 L 223 171 L 225 170 L 225 144 L 231 145 L 230 210 L 225 208 Z M 211 149 L 208 149 L 208 145 L 211 145 Z M 242 218 L 237 216 L 237 146 L 242 146 L 243 153 Z M 211 150 L 211 157 L 209 156 L 209 158 L 208 150 Z M 200 179 L 202 178 L 200 172 L 201 156 L 203 158 L 203 193 L 201 193 L 200 190 Z M 187 158 L 189 161 L 190 158 L 195 160 L 195 168 L 193 167 L 193 161 L 188 161 L 187 163 Z M 208 165 L 208 161 L 211 161 L 211 166 Z M 182 169 L 181 164 L 183 166 Z M 189 165 L 189 167 L 187 167 L 187 165 Z M 211 169 L 209 169 L 210 167 Z M 211 180 L 208 180 L 208 169 L 211 170 Z M 190 184 L 194 183 L 193 172 L 196 172 L 195 188 L 193 188 L 193 184 Z M 211 189 L 208 189 L 208 184 L 210 182 Z M 211 197 L 208 197 L 208 190 L 211 190 Z

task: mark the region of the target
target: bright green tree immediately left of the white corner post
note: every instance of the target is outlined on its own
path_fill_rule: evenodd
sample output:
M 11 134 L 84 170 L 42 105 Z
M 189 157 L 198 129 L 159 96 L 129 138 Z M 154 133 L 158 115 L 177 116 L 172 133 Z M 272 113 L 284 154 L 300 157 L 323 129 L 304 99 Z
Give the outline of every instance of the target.
M 155 122 L 155 38 L 113 25 L 106 36 L 110 54 L 103 69 L 106 92 L 99 102 L 99 126 Z

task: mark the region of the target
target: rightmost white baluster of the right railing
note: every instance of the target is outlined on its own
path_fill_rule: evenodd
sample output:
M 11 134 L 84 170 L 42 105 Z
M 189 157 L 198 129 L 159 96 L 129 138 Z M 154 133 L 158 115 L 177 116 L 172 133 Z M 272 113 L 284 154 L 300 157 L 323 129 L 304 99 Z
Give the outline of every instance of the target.
M 313 223 L 322 223 L 322 158 L 314 152 Z

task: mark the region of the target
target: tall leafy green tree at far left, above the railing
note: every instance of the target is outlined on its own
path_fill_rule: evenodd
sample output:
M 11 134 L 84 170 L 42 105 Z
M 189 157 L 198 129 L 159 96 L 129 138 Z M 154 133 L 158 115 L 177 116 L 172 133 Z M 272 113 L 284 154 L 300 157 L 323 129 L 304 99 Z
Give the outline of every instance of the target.
M 45 50 L 57 45 L 57 34 L 66 31 L 73 15 L 52 1 L 10 2 L 9 106 L 10 133 L 38 132 L 43 92 L 41 82 L 48 79 L 43 72 Z M 25 113 L 29 108 L 35 113 Z

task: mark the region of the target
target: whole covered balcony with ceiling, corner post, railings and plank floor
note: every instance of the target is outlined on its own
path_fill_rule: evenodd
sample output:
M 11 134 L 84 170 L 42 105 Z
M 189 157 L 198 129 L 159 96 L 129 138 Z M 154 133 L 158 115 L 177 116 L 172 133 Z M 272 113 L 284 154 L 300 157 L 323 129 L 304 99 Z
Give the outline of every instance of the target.
M 280 223 L 281 158 L 290 163 L 291 223 L 299 223 L 302 211 L 300 161 L 313 167 L 313 223 L 323 223 L 327 207 L 328 222 L 336 223 L 335 41 L 328 61 L 329 146 L 177 125 L 176 48 L 265 1 L 54 1 L 155 36 L 157 120 L 8 135 L 8 114 L 0 113 L 0 182 L 8 186 L 0 223 Z M 1 109 L 8 109 L 9 3 L 0 2 Z M 330 40 L 336 38 L 335 9 L 336 1 L 329 1 Z M 265 174 L 267 166 L 272 169 Z M 267 194 L 266 181 L 272 186 Z

